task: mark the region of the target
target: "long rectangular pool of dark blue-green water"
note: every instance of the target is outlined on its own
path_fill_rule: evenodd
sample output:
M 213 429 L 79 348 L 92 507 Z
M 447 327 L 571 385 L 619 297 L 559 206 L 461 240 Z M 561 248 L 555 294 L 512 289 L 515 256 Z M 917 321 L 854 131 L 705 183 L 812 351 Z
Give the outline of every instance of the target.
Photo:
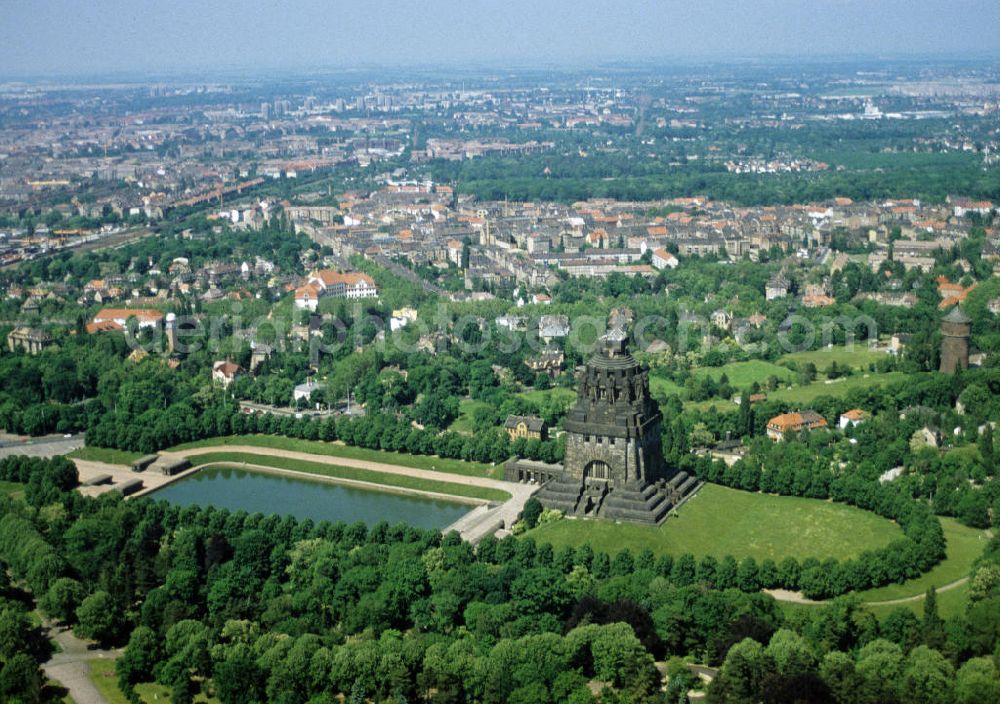
M 179 506 L 215 506 L 248 513 L 291 514 L 314 521 L 379 521 L 444 528 L 472 506 L 411 494 L 312 481 L 230 467 L 207 467 L 150 494 Z

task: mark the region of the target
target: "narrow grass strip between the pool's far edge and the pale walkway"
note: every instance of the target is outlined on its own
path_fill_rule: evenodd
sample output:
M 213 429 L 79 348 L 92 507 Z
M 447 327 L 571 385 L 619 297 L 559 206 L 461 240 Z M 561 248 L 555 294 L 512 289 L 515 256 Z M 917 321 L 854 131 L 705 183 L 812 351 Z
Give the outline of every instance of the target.
M 323 477 L 352 479 L 354 481 L 381 484 L 382 486 L 398 487 L 400 489 L 415 489 L 417 491 L 432 491 L 438 494 L 448 494 L 451 496 L 460 496 L 471 499 L 506 501 L 510 498 L 510 494 L 506 491 L 500 491 L 499 489 L 456 484 L 454 482 L 439 482 L 433 479 L 410 477 L 405 474 L 375 472 L 370 469 L 358 469 L 356 467 L 339 467 L 337 465 L 320 464 L 318 462 L 305 462 L 286 457 L 254 455 L 246 452 L 209 452 L 204 455 L 193 455 L 190 459 L 196 466 L 209 464 L 229 464 L 235 466 L 243 464 L 256 464 L 263 467 L 274 467 L 276 469 L 290 469 L 297 472 L 307 472 L 309 474 L 317 474 Z

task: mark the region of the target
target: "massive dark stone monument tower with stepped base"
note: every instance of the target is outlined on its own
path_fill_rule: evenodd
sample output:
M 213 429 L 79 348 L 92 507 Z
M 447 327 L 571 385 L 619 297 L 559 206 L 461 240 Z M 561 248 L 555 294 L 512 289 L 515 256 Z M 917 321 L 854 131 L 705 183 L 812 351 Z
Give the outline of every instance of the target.
M 668 468 L 660 444 L 663 416 L 649 395 L 649 377 L 615 331 L 578 371 L 576 405 L 566 416 L 562 472 L 532 473 L 507 464 L 511 481 L 545 481 L 537 494 L 567 515 L 660 523 L 698 482 Z M 537 468 L 536 468 L 537 469 Z

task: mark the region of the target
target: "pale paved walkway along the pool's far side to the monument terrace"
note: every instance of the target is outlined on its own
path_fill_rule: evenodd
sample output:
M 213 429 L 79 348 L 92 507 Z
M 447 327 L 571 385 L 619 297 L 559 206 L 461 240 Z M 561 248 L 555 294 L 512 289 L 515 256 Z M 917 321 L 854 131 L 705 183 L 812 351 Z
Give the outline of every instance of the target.
M 419 479 L 429 479 L 439 482 L 451 482 L 464 486 L 477 486 L 486 489 L 499 489 L 511 495 L 511 498 L 499 506 L 479 507 L 473 509 L 462 518 L 452 523 L 444 529 L 444 532 L 452 530 L 458 531 L 464 540 L 476 543 L 487 535 L 492 535 L 498 530 L 509 530 L 517 517 L 524 509 L 524 504 L 528 498 L 540 488 L 535 484 L 519 484 L 515 482 L 505 482 L 490 477 L 473 477 L 464 474 L 451 474 L 449 472 L 438 472 L 431 469 L 416 469 L 413 467 L 403 467 L 384 462 L 372 462 L 369 460 L 358 460 L 349 457 L 336 457 L 333 455 L 314 455 L 308 452 L 297 452 L 295 450 L 282 450 L 271 447 L 257 447 L 256 445 L 216 445 L 213 447 L 198 447 L 190 450 L 178 450 L 175 452 L 162 452 L 161 458 L 182 459 L 192 458 L 198 455 L 212 454 L 217 452 L 238 452 L 240 454 L 258 455 L 261 457 L 283 457 L 303 462 L 314 462 L 317 464 L 328 464 L 338 467 L 354 467 L 356 469 L 366 469 L 372 472 L 383 472 L 385 474 L 398 474 Z M 261 469 L 278 472 L 294 472 L 294 470 L 275 469 L 273 467 L 261 467 Z M 308 473 L 306 473 L 308 474 Z M 310 475 L 315 479 L 317 475 Z M 342 480 L 337 480 L 342 481 Z M 384 488 L 379 486 L 379 488 Z

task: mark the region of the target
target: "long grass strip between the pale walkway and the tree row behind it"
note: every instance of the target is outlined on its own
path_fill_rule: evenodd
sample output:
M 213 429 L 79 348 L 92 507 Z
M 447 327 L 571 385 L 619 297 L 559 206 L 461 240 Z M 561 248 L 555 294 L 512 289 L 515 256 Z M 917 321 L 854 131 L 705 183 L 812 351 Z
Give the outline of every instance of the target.
M 272 447 L 276 450 L 308 452 L 313 455 L 328 455 L 330 457 L 347 457 L 352 460 L 382 462 L 399 465 L 400 467 L 413 467 L 414 469 L 433 469 L 437 472 L 461 474 L 466 477 L 499 476 L 503 473 L 502 467 L 491 467 L 482 462 L 463 462 L 462 460 L 437 457 L 436 455 L 411 455 L 405 452 L 369 450 L 363 447 L 350 447 L 336 442 L 300 440 L 298 438 L 286 438 L 281 435 L 226 435 L 225 437 L 207 438 L 205 440 L 185 443 L 170 448 L 170 451 L 190 450 L 197 447 L 215 447 L 216 445 Z

